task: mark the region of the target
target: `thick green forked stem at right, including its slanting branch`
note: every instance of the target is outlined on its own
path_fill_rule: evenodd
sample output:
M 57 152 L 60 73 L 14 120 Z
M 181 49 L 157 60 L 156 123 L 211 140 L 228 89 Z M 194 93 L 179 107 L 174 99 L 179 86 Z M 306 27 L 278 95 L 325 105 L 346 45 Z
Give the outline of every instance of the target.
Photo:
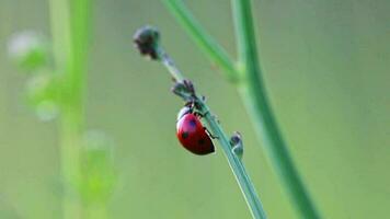
M 227 56 L 220 53 L 223 49 L 213 49 L 213 45 L 208 42 L 217 43 L 192 16 L 182 1 L 165 0 L 164 3 L 206 55 L 209 57 Z M 236 65 L 234 71 L 229 70 L 229 78 L 238 79 L 234 84 L 252 118 L 256 136 L 264 143 L 264 150 L 288 192 L 292 205 L 296 206 L 302 218 L 320 218 L 294 165 L 267 101 L 260 77 L 261 70 L 250 0 L 232 0 L 232 9 L 240 60 Z M 214 50 L 214 53 L 209 50 Z M 229 61 L 232 62 L 231 60 Z M 221 65 L 220 62 L 217 64 Z

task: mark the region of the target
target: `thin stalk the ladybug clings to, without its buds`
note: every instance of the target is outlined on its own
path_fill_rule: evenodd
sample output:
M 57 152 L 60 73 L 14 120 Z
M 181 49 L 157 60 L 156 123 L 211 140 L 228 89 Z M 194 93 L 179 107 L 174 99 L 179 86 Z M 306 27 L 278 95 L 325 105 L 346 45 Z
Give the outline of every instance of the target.
M 174 80 L 177 82 L 182 82 L 184 80 L 184 77 L 182 76 L 180 70 L 174 66 L 172 59 L 161 48 L 159 48 L 158 50 L 159 50 L 160 60 L 168 68 L 168 70 L 170 71 Z M 251 178 L 246 174 L 245 168 L 241 159 L 233 153 L 231 145 L 228 140 L 229 138 L 222 130 L 222 127 L 217 122 L 214 114 L 211 114 L 209 107 L 202 100 L 202 97 L 196 96 L 196 99 L 197 99 L 196 102 L 198 103 L 198 107 L 199 107 L 197 110 L 203 115 L 205 115 L 204 119 L 207 122 L 207 125 L 211 130 L 211 132 L 218 136 L 218 141 L 222 147 L 225 155 L 228 159 L 230 169 L 232 170 L 233 175 L 236 176 L 236 180 L 241 188 L 241 192 L 244 195 L 246 204 L 251 210 L 252 217 L 256 219 L 265 219 L 266 218 L 265 211 L 256 194 L 256 191 L 251 182 Z

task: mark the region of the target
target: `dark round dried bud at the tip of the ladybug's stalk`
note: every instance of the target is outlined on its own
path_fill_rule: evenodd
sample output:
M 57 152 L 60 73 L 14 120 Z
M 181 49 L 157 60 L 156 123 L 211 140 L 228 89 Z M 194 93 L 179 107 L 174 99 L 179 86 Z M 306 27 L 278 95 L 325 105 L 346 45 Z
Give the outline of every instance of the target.
M 133 37 L 133 41 L 142 56 L 147 56 L 152 60 L 157 60 L 158 44 L 160 39 L 160 33 L 152 26 L 144 26 L 139 28 Z

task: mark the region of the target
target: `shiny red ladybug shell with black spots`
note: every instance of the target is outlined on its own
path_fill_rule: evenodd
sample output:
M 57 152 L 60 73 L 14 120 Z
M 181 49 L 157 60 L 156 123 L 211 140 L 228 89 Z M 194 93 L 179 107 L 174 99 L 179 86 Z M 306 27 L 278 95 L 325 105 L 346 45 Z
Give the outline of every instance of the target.
M 213 141 L 198 117 L 188 113 L 183 115 L 176 124 L 179 141 L 188 151 L 205 155 L 215 151 Z

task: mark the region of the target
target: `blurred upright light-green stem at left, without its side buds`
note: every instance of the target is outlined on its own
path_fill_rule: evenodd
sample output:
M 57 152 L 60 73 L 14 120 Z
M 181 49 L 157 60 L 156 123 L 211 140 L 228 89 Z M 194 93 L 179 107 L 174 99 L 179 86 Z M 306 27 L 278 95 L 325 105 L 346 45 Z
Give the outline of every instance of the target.
M 89 0 L 50 0 L 56 71 L 61 79 L 60 159 L 65 219 L 82 217 L 78 185 L 83 132 L 83 90 L 89 24 Z

